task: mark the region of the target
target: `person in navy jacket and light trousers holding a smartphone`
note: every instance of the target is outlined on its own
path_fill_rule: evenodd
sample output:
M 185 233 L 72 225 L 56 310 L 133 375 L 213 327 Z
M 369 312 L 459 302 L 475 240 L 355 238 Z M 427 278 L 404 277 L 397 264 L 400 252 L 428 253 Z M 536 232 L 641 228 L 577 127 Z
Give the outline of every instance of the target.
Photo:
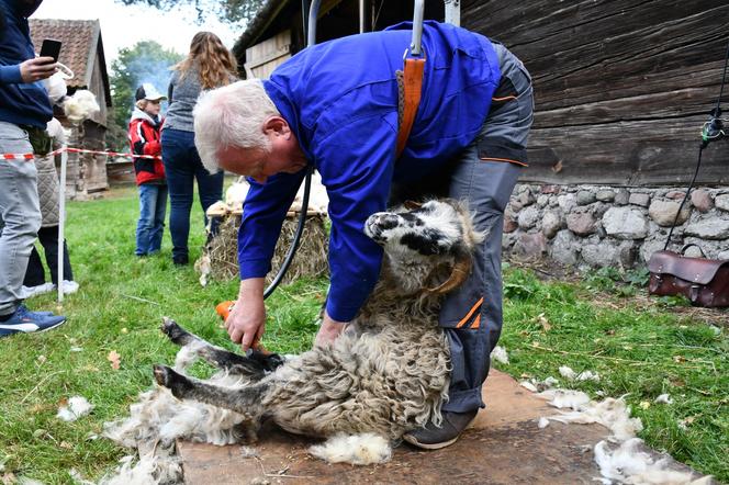
M 47 145 L 53 117 L 42 80 L 58 66 L 35 57 L 27 18 L 42 0 L 0 0 L 0 154 L 34 154 Z M 41 227 L 34 159 L 0 157 L 0 337 L 48 330 L 66 322 L 49 312 L 31 312 L 21 286 Z

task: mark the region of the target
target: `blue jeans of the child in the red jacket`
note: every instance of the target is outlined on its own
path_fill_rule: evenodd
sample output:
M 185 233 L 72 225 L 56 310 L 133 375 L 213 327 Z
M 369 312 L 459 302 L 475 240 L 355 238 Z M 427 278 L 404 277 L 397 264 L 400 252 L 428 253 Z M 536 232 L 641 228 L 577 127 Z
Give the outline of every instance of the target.
M 136 233 L 136 256 L 158 252 L 162 245 L 165 214 L 167 213 L 167 185 L 143 183 L 139 185 L 139 221 Z

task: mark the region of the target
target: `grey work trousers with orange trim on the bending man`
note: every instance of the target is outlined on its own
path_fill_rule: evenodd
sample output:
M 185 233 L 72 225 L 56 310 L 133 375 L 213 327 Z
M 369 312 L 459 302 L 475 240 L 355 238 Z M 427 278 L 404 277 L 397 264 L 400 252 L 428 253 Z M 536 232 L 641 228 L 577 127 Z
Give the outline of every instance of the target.
M 521 61 L 501 44 L 502 80 L 481 133 L 441 171 L 416 189 L 396 188 L 393 201 L 424 195 L 466 201 L 478 230 L 486 234 L 469 279 L 450 293 L 440 311 L 440 326 L 450 342 L 451 383 L 444 410 L 466 413 L 483 407 L 481 386 L 490 354 L 502 329 L 502 233 L 504 208 L 521 168 L 534 113 L 531 79 Z M 444 184 L 444 180 L 449 183 Z M 446 191 L 447 189 L 447 191 Z

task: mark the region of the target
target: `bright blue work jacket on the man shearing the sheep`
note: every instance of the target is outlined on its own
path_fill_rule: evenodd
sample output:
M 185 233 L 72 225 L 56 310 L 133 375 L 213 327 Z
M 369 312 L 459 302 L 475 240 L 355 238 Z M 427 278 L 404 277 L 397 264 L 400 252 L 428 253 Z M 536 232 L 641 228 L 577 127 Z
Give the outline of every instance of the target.
M 329 196 L 330 290 L 327 312 L 350 320 L 372 291 L 382 250 L 365 221 L 384 211 L 393 180 L 416 183 L 478 135 L 498 86 L 491 42 L 448 24 L 426 22 L 423 98 L 405 150 L 395 159 L 397 82 L 411 23 L 309 47 L 263 81 Z M 304 177 L 250 180 L 238 233 L 240 278 L 260 278 Z

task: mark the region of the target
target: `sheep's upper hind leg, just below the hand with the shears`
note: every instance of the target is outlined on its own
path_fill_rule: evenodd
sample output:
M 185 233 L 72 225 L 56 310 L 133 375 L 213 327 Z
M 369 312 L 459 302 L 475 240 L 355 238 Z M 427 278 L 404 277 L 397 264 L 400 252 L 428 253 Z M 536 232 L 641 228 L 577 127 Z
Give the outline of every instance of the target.
M 257 350 L 250 350 L 248 356 L 238 356 L 237 353 L 228 352 L 189 332 L 171 318 L 162 318 L 160 329 L 173 343 L 178 346 L 192 345 L 195 354 L 232 374 L 262 379 L 266 372 L 271 372 L 283 363 L 283 359 L 276 353 L 263 354 Z

